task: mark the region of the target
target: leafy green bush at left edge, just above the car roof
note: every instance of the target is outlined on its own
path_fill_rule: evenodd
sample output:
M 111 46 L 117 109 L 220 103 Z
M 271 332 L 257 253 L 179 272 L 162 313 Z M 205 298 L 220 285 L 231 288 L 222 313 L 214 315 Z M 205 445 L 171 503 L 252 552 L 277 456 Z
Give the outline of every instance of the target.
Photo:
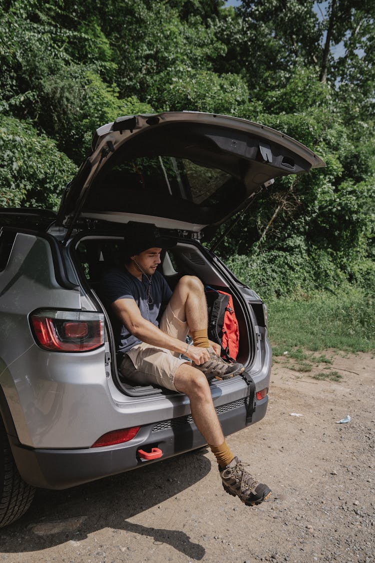
M 56 143 L 29 123 L 0 118 L 0 206 L 57 209 L 76 172 Z

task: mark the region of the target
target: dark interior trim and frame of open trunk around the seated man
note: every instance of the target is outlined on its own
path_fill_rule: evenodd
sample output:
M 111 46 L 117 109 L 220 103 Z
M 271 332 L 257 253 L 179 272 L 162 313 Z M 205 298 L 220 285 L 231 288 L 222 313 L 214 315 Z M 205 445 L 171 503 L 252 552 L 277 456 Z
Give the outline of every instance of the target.
M 233 275 L 220 260 L 208 252 L 198 241 L 173 238 L 174 246 L 162 253 L 160 272 L 165 276 L 171 289 L 183 275 L 195 275 L 204 285 L 231 293 L 234 310 L 240 328 L 240 348 L 237 361 L 251 370 L 257 353 L 259 332 L 264 327 L 263 308 L 260 298 L 240 282 L 233 283 Z M 102 299 L 101 278 L 105 271 L 114 266 L 123 267 L 124 238 L 121 235 L 77 236 L 71 245 L 73 260 L 82 279 L 82 285 L 88 296 L 97 302 L 97 306 L 106 313 L 108 341 L 107 365 L 111 370 L 116 386 L 130 396 L 149 396 L 153 394 L 173 394 L 173 391 L 152 385 L 134 387 L 121 376 L 116 362 L 116 337 L 119 333 L 119 321 L 112 314 L 109 303 Z M 241 291 L 240 291 L 241 290 Z M 246 295 L 246 298 L 244 297 Z

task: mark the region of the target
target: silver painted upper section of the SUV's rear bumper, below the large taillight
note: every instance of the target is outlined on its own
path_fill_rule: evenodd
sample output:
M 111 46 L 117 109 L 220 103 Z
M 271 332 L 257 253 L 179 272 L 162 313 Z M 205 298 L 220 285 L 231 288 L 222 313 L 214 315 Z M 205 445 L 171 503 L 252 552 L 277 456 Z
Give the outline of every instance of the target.
M 270 360 L 266 343 L 250 372 L 258 391 L 269 386 Z M 103 349 L 49 354 L 34 345 L 4 368 L 0 385 L 19 441 L 31 448 L 89 448 L 112 430 L 190 414 L 183 394 L 138 399 L 121 393 L 106 377 Z M 240 376 L 211 383 L 216 407 L 245 398 L 247 391 Z M 245 427 L 245 420 L 241 424 Z

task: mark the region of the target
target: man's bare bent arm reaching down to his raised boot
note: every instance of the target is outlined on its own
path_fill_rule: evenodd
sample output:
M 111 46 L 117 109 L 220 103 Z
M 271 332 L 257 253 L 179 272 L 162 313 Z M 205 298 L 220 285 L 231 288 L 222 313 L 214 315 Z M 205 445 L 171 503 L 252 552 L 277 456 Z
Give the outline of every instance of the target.
M 186 342 L 169 336 L 169 334 L 162 332 L 160 328 L 150 323 L 150 321 L 144 319 L 137 303 L 133 299 L 118 299 L 112 303 L 112 309 L 129 332 L 142 342 L 146 342 L 151 346 L 166 348 L 171 352 L 184 354 L 196 364 L 202 364 L 209 359 L 207 348 L 191 345 L 186 350 Z

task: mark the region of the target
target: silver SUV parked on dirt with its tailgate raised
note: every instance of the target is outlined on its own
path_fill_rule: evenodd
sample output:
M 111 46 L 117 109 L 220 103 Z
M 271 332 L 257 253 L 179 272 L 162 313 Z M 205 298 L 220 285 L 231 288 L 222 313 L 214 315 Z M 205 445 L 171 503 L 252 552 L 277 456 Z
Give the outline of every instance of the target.
M 273 178 L 324 166 L 304 145 L 244 119 L 194 112 L 121 117 L 96 132 L 58 213 L 0 211 L 0 526 L 34 488 L 64 489 L 205 445 L 183 394 L 134 387 L 116 365 L 101 276 L 124 225 L 155 225 L 161 272 L 231 293 L 242 376 L 214 380 L 229 435 L 266 413 L 271 350 L 257 294 L 202 244 Z M 11 338 L 8 338 L 11 335 Z

